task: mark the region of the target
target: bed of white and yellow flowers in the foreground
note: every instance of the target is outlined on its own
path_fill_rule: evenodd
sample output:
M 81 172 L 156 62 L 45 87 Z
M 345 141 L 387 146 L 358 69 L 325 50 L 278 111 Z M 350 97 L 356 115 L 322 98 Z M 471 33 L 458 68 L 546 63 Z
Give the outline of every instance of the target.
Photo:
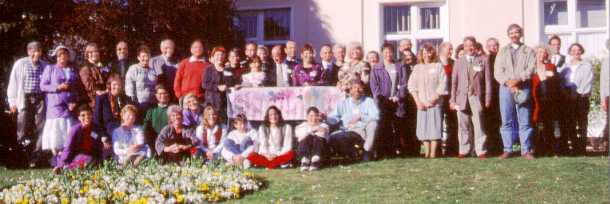
M 50 172 L 49 172 L 50 173 Z M 2 190 L 0 203 L 203 203 L 238 199 L 262 186 L 253 173 L 198 160 L 65 171 Z

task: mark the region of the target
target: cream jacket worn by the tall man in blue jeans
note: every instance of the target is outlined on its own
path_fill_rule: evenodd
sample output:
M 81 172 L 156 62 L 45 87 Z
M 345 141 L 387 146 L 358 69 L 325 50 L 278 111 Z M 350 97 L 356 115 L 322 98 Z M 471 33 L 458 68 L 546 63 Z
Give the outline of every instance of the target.
M 494 77 L 501 85 L 509 79 L 527 81 L 532 77 L 535 70 L 536 54 L 532 48 L 521 45 L 516 54 L 516 61 L 513 65 L 511 44 L 508 44 L 498 52 L 494 64 Z

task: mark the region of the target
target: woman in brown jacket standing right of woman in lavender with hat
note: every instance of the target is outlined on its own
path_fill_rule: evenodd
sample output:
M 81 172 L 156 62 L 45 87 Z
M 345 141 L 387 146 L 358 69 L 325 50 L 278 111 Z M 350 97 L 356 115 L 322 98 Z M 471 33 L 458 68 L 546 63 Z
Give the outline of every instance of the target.
M 95 96 L 106 91 L 106 79 L 110 70 L 101 63 L 101 55 L 97 44 L 89 43 L 85 47 L 85 63 L 80 68 L 80 79 L 89 97 L 89 106 L 95 106 Z

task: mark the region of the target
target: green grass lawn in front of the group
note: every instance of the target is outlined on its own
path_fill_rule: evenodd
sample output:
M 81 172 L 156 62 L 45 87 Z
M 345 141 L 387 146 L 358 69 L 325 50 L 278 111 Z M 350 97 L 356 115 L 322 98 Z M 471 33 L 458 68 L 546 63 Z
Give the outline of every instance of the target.
M 253 171 L 265 189 L 230 202 L 609 203 L 608 157 L 391 159 L 311 173 Z M 50 173 L 0 169 L 0 188 Z

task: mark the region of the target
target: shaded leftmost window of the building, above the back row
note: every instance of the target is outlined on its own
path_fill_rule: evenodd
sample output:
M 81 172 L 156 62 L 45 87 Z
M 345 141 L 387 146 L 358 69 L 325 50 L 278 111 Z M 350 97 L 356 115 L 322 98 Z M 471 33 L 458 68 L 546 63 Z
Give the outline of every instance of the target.
M 291 9 L 241 11 L 236 23 L 247 41 L 262 44 L 283 43 L 292 32 Z

